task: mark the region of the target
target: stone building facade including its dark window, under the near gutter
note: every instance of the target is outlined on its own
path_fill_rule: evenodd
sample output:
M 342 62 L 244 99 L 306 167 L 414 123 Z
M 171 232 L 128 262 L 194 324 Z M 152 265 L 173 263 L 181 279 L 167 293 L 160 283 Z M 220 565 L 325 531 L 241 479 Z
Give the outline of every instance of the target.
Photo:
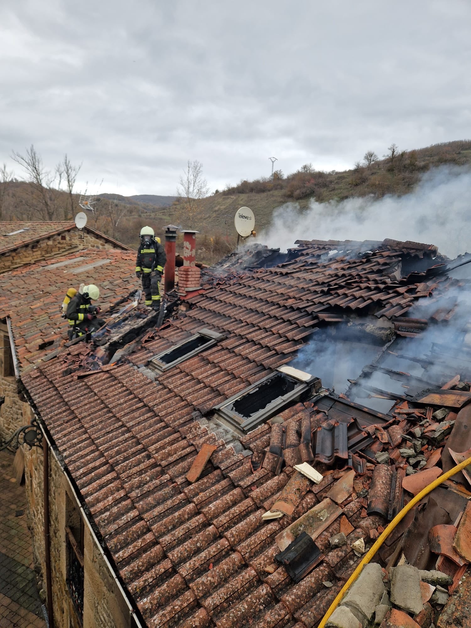
M 46 591 L 43 450 L 24 450 L 28 526 L 38 581 Z M 55 628 L 133 628 L 129 607 L 80 511 L 57 458 L 49 450 L 51 580 Z M 41 596 L 43 595 L 41 593 Z

